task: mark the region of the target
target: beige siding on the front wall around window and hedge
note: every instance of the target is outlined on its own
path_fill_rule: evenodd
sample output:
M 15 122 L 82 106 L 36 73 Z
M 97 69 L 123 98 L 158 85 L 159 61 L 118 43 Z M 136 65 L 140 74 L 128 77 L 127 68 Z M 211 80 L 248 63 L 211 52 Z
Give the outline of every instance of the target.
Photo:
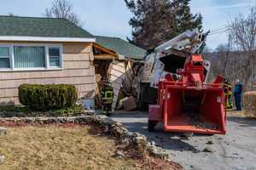
M 64 68 L 61 70 L 0 71 L 0 105 L 18 104 L 18 87 L 23 83 L 73 84 L 78 89 L 79 97 L 93 97 L 96 85 L 95 69 L 90 65 L 93 60 L 91 44 L 68 42 L 62 43 L 62 47 Z

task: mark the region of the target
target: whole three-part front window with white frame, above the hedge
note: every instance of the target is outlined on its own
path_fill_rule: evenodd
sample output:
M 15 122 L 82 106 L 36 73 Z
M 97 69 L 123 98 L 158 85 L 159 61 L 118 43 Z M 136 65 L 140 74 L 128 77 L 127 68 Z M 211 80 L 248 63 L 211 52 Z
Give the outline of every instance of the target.
M 0 44 L 0 71 L 58 69 L 61 45 Z

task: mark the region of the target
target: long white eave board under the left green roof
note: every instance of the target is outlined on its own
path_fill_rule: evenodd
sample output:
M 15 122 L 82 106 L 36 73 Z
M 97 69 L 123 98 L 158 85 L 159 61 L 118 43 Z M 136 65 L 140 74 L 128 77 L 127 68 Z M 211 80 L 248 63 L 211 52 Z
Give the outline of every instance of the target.
M 94 38 L 94 37 L 23 37 L 23 36 L 0 36 L 0 41 L 96 42 L 96 38 Z

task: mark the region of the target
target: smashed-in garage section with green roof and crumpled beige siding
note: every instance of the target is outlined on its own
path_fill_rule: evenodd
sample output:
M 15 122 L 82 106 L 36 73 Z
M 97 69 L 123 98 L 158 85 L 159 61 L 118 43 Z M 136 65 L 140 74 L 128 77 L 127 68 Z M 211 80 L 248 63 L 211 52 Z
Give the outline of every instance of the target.
M 119 57 L 118 61 L 112 62 L 108 66 L 108 79 L 112 82 L 113 86 L 112 109 L 114 110 L 118 104 L 121 88 L 128 96 L 137 95 L 137 75 L 136 69 L 134 69 L 134 63 L 137 60 L 142 60 L 146 55 L 146 51 L 119 37 L 96 36 L 96 43 L 115 51 Z M 98 71 L 96 71 L 97 73 Z M 135 101 L 131 103 L 135 104 Z M 133 108 L 131 107 L 131 109 Z

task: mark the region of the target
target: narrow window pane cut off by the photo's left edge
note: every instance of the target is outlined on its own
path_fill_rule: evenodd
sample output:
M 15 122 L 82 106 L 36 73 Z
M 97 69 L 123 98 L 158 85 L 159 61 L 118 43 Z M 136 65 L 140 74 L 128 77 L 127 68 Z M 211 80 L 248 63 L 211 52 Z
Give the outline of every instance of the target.
M 0 46 L 0 69 L 10 69 L 10 48 Z

